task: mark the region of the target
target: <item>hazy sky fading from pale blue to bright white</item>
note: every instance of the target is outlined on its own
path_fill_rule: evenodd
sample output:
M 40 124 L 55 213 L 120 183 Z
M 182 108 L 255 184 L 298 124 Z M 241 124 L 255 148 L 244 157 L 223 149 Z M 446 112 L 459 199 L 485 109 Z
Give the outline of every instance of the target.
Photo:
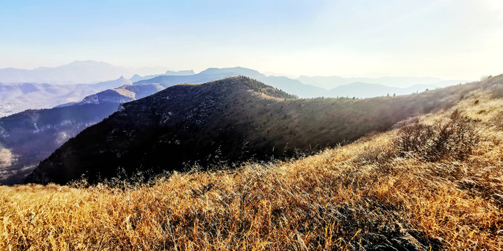
M 503 73 L 503 1 L 7 1 L 0 68 L 75 60 L 286 75 Z

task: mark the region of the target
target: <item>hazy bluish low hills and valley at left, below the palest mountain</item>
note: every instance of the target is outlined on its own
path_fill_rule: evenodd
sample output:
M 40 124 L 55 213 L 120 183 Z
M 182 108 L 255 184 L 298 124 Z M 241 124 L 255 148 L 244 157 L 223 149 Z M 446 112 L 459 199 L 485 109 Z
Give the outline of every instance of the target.
M 51 108 L 79 102 L 85 96 L 131 84 L 129 79 L 119 77 L 115 80 L 96 84 L 0 84 L 0 117 L 22 112 L 25 109 Z

